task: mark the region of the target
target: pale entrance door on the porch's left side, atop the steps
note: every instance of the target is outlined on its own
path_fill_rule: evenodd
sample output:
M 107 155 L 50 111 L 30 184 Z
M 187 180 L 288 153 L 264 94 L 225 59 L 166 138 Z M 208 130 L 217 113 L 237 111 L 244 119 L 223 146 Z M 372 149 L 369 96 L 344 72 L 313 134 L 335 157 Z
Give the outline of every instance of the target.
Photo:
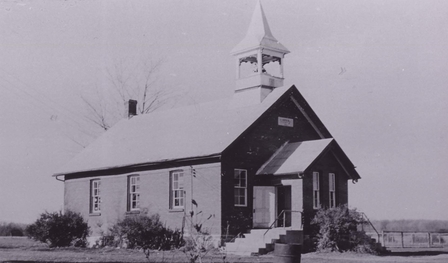
M 254 186 L 254 216 L 256 228 L 268 228 L 275 221 L 276 196 L 274 186 Z

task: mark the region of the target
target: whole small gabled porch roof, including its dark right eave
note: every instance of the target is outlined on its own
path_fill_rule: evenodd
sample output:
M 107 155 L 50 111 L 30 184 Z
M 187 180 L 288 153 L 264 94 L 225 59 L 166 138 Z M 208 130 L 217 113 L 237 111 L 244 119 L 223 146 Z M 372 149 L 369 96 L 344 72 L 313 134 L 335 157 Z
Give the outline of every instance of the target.
M 257 175 L 301 174 L 329 151 L 350 179 L 361 178 L 353 163 L 333 138 L 286 143 L 260 167 Z

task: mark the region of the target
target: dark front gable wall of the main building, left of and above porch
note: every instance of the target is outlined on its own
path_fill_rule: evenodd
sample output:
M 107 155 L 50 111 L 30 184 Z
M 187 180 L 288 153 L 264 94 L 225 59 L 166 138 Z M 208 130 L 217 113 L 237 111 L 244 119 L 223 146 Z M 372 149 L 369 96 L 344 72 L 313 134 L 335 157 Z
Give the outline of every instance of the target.
M 294 120 L 293 127 L 278 125 L 278 117 Z M 252 189 L 255 173 L 285 142 L 320 139 L 314 128 L 289 99 L 274 105 L 222 154 L 223 227 L 230 224 L 231 234 L 252 224 Z M 248 170 L 247 207 L 235 207 L 233 173 L 235 168 Z

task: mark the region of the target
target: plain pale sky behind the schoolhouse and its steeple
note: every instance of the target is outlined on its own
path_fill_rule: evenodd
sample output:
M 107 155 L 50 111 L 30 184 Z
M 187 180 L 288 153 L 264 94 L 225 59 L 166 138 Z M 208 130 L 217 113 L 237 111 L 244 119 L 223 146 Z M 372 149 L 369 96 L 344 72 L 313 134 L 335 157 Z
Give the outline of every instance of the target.
M 256 1 L 0 1 L 0 221 L 62 209 L 53 172 L 97 134 L 81 96 L 163 60 L 176 105 L 234 90 Z M 448 2 L 263 0 L 296 85 L 357 166 L 371 219 L 448 219 Z M 181 96 L 179 96 L 181 94 Z

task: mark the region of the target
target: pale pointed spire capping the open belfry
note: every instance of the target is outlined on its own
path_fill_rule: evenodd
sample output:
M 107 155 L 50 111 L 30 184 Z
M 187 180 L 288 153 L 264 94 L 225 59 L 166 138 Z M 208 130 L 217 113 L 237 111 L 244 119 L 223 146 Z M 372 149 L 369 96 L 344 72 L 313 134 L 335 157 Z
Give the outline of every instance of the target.
M 238 54 L 260 47 L 289 53 L 289 50 L 272 35 L 261 1 L 258 0 L 246 36 L 231 53 Z

